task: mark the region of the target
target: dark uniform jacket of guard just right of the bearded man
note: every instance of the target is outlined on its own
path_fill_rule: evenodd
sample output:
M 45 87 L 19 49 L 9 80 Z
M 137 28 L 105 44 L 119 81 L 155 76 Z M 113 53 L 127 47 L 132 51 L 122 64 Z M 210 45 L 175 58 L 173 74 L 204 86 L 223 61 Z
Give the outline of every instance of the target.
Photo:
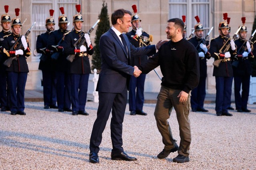
M 188 41 L 190 43 L 192 43 L 195 47 L 196 47 L 196 50 L 199 52 L 203 52 L 204 53 L 204 50 L 202 50 L 199 46 L 199 43 L 200 41 L 202 40 L 202 38 L 198 38 L 198 37 L 193 37 L 193 38 L 190 38 Z M 206 47 L 209 49 L 210 47 L 210 43 L 209 41 L 207 40 L 206 43 L 205 43 Z M 206 59 L 210 59 L 211 58 L 211 55 L 209 53 L 209 51 L 207 51 L 206 54 L 204 54 L 204 57 L 199 57 L 199 68 L 200 68 L 200 77 L 206 77 L 207 76 L 207 64 L 206 64 Z

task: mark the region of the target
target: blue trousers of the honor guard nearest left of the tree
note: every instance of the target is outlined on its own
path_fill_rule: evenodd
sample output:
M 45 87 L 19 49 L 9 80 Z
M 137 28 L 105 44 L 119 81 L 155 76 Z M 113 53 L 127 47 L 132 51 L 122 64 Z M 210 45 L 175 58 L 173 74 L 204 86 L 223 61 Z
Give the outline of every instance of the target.
M 72 111 L 84 111 L 90 74 L 71 74 Z

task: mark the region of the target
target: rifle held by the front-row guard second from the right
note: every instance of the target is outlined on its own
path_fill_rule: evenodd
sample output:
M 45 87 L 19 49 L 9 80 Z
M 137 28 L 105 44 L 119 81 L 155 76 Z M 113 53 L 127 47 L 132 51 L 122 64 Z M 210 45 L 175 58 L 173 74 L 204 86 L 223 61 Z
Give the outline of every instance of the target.
M 224 43 L 224 45 L 220 48 L 220 50 L 219 50 L 219 52 L 220 53 L 226 53 L 226 52 L 228 52 L 228 50 L 229 50 L 229 48 L 230 48 L 230 41 L 231 41 L 231 39 L 233 39 L 234 41 L 236 40 L 236 39 L 238 39 L 238 32 L 240 31 L 240 29 L 241 29 L 241 27 L 242 26 L 240 26 L 239 28 L 238 28 L 238 30 L 236 31 L 236 33 L 233 35 L 233 37 L 228 37 L 228 39 L 226 40 L 226 42 Z M 220 54 L 219 53 L 219 54 Z M 219 55 L 218 53 L 214 53 L 215 55 Z M 222 62 L 222 61 L 226 61 L 226 59 L 218 59 L 218 60 L 215 60 L 212 64 L 214 65 L 214 66 L 216 66 L 216 67 L 219 67 L 219 65 L 220 65 L 220 62 Z

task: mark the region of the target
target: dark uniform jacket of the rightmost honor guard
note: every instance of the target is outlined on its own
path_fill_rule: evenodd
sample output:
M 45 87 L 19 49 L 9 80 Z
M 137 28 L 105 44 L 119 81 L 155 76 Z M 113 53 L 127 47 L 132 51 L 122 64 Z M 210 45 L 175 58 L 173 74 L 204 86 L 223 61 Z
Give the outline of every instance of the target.
M 252 51 L 248 53 L 248 57 L 242 57 L 242 53 L 244 50 L 242 50 L 242 45 L 245 40 L 237 39 L 235 41 L 235 44 L 237 46 L 237 57 L 235 58 L 235 61 L 238 60 L 237 67 L 233 66 L 233 73 L 234 76 L 246 76 L 246 75 L 252 75 L 252 66 L 250 63 L 250 60 L 254 58 L 254 55 L 252 54 Z M 246 47 L 246 42 L 245 42 Z M 241 49 L 240 49 L 241 48 Z M 246 48 L 246 52 L 248 52 L 248 49 Z

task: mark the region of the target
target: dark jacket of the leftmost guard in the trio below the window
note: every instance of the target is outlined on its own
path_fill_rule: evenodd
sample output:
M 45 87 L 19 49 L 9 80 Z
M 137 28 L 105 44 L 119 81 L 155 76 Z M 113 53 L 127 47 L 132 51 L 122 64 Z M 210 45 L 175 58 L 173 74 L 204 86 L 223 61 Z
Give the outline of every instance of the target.
M 36 40 L 36 52 L 42 54 L 40 57 L 39 70 L 52 70 L 52 52 L 47 49 L 47 41 L 49 39 L 50 32 L 46 31 L 38 35 Z

